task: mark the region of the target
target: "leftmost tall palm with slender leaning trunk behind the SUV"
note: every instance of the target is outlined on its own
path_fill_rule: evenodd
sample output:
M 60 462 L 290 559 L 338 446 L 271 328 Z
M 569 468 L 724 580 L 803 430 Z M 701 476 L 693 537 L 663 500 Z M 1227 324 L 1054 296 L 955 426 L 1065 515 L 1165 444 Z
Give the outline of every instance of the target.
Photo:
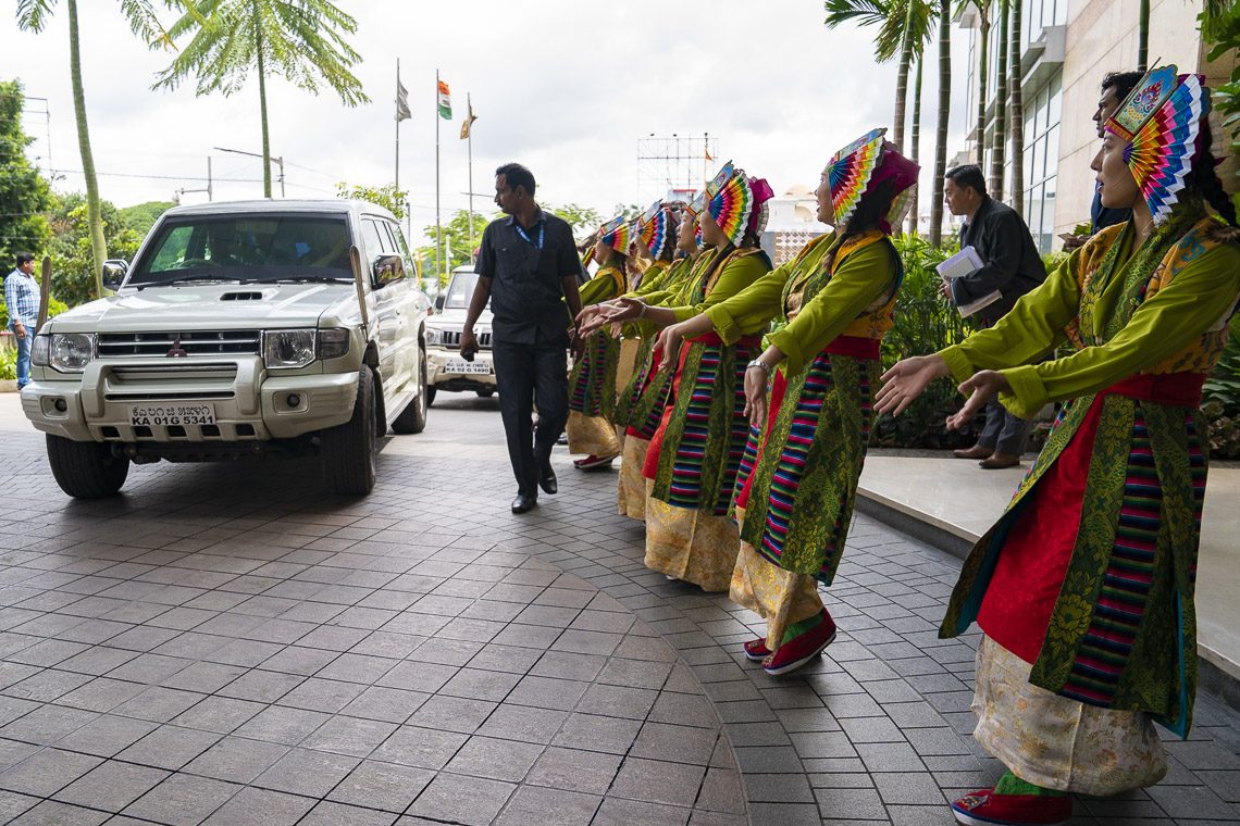
M 170 2 L 167 5 L 171 5 Z M 17 27 L 41 32 L 47 26 L 56 0 L 17 0 Z M 103 295 L 103 263 L 108 243 L 103 238 L 103 217 L 99 213 L 99 178 L 91 151 L 91 131 L 86 121 L 86 93 L 82 89 L 82 50 L 78 41 L 77 0 L 66 0 L 69 24 L 69 80 L 73 87 L 73 119 L 77 123 L 78 152 L 82 155 L 82 177 L 86 178 L 86 215 L 91 228 L 91 256 L 94 259 L 94 297 Z M 155 16 L 150 0 L 120 0 L 120 11 L 129 28 L 149 46 L 170 45 L 167 32 Z

